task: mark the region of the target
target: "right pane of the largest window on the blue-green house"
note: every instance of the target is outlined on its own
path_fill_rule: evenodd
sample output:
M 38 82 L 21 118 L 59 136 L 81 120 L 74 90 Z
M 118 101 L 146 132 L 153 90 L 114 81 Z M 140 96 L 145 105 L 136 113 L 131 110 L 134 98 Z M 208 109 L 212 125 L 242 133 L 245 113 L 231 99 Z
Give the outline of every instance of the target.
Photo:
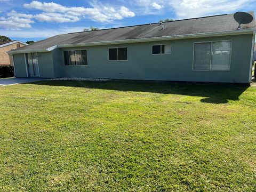
M 231 41 L 212 43 L 211 70 L 229 70 L 231 55 Z

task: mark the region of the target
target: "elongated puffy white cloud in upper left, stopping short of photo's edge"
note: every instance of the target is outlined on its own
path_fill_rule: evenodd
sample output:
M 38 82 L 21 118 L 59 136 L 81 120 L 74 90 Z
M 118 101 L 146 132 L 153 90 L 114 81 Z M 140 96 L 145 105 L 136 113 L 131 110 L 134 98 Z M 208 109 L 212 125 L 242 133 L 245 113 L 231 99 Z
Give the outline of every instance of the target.
M 91 6 L 92 8 L 67 7 L 53 2 L 42 3 L 38 1 L 24 4 L 24 7 L 27 9 L 44 11 L 43 13 L 35 15 L 35 19 L 47 22 L 76 22 L 80 20 L 80 17 L 98 22 L 109 22 L 135 16 L 135 13 L 125 6 L 121 6 L 117 9 L 110 5 L 98 3 L 97 1 L 91 3 Z

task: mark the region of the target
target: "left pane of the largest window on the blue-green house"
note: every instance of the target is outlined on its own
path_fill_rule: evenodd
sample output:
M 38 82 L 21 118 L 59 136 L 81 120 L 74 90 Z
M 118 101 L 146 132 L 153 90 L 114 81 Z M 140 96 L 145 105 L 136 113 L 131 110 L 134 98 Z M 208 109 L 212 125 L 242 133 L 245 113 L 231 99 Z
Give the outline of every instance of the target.
M 195 43 L 194 70 L 210 70 L 211 43 Z

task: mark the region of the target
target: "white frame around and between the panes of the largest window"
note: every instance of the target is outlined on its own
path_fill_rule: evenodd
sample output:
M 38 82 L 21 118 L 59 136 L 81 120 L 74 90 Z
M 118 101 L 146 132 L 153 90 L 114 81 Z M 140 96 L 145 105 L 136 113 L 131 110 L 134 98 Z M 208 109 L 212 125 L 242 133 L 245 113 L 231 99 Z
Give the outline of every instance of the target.
M 230 47 L 230 61 L 229 61 L 229 70 L 211 70 L 211 64 L 212 64 L 212 43 L 214 42 L 225 42 L 230 41 L 231 47 Z M 210 55 L 210 68 L 209 69 L 194 69 L 194 62 L 195 62 L 195 44 L 196 43 L 211 43 L 211 55 Z M 232 47 L 233 46 L 233 40 L 220 40 L 220 41 L 207 41 L 207 42 L 194 42 L 193 44 L 193 64 L 192 64 L 192 70 L 193 71 L 230 71 L 231 70 L 231 56 L 232 56 Z

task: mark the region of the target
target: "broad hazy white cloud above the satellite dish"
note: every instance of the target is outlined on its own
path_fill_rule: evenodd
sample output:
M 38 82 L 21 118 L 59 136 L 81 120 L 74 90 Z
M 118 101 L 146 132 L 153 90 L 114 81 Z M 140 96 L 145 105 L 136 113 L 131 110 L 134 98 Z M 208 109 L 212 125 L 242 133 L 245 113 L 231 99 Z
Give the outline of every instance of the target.
M 234 13 L 244 9 L 256 9 L 255 0 L 130 0 L 130 3 L 137 15 L 169 13 L 171 17 L 174 13 L 173 19 L 195 18 Z

